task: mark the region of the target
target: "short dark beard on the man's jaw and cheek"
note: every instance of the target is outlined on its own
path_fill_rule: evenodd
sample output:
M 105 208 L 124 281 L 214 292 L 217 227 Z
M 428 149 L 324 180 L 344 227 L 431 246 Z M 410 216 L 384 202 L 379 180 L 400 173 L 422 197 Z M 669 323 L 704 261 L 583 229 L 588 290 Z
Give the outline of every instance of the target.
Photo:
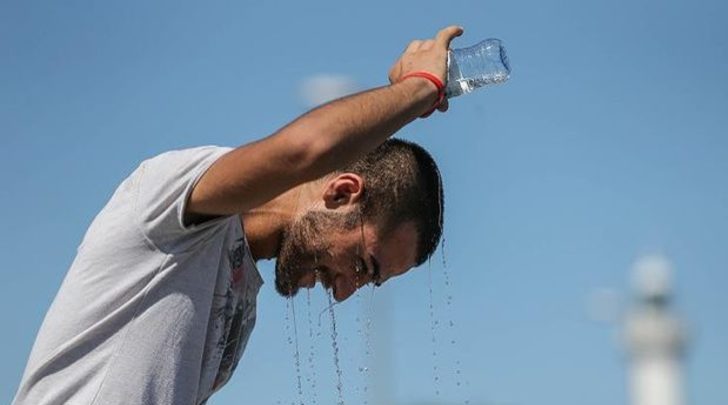
M 326 235 L 332 229 L 351 229 L 360 220 L 358 212 L 309 211 L 284 229 L 275 266 L 276 291 L 284 297 L 295 296 L 301 279 L 317 271 L 319 259 L 329 255 L 331 243 Z M 323 271 L 320 276 L 326 278 Z

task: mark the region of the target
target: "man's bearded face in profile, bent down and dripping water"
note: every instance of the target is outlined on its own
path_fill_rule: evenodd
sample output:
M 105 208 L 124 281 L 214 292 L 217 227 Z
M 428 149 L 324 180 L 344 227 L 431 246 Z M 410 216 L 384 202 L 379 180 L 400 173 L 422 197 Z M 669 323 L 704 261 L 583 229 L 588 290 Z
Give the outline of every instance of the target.
M 415 264 L 417 233 L 412 223 L 383 234 L 358 213 L 313 211 L 289 226 L 276 261 L 276 289 L 293 296 L 320 282 L 337 301 L 373 283 L 381 285 Z

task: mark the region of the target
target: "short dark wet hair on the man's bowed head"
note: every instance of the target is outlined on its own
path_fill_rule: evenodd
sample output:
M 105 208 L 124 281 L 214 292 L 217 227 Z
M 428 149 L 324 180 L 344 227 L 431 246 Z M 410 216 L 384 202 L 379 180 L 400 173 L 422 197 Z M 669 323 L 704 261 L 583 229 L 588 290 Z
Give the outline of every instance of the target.
M 424 148 L 390 138 L 339 171 L 364 179 L 363 216 L 381 221 L 384 232 L 414 223 L 417 266 L 432 256 L 442 236 L 445 202 L 440 170 Z

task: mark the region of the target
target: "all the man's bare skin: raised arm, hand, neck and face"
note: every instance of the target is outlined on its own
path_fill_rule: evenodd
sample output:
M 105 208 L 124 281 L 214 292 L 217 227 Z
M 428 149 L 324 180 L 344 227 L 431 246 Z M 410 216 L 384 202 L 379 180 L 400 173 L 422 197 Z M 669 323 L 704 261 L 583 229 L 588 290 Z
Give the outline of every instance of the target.
M 364 180 L 331 173 L 433 108 L 447 110 L 438 83 L 447 79 L 450 42 L 462 33 L 461 27 L 449 26 L 433 38 L 412 41 L 389 70 L 390 85 L 326 103 L 219 158 L 192 190 L 185 221 L 240 214 L 253 257 L 277 259 L 276 276 L 286 280 L 276 288 L 284 295 L 313 285 L 317 268 L 337 300 L 375 277 L 374 261 L 383 280 L 411 268 L 417 239 L 411 224 L 383 235 L 375 223 L 364 221 L 363 240 L 361 229 L 327 226 L 304 232 L 301 226 L 315 224 L 309 213 L 360 211 Z M 439 82 L 412 75 L 423 71 Z M 354 277 L 357 266 L 369 273 Z

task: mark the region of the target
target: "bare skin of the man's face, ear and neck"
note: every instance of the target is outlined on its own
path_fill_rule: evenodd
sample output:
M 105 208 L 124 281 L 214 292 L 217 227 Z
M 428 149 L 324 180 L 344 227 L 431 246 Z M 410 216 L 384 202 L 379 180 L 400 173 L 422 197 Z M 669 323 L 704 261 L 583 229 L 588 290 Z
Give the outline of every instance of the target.
M 358 175 L 340 173 L 303 184 L 242 216 L 253 257 L 276 259 L 277 280 L 279 272 L 290 277 L 290 283 L 277 286 L 279 293 L 295 295 L 319 282 L 343 301 L 364 285 L 381 285 L 414 267 L 414 224 L 405 222 L 385 233 L 378 224 L 361 220 L 363 187 Z M 311 218 L 317 214 L 334 217 L 334 222 L 346 215 L 358 220 L 347 227 Z

